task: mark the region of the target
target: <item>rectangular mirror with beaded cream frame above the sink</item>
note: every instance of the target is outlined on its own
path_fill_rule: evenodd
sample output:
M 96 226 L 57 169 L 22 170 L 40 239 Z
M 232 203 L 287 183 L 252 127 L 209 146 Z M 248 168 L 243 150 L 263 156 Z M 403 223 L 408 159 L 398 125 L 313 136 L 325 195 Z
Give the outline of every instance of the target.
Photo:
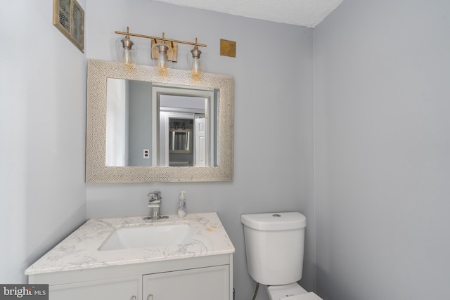
M 233 77 L 88 62 L 86 182 L 233 180 Z

